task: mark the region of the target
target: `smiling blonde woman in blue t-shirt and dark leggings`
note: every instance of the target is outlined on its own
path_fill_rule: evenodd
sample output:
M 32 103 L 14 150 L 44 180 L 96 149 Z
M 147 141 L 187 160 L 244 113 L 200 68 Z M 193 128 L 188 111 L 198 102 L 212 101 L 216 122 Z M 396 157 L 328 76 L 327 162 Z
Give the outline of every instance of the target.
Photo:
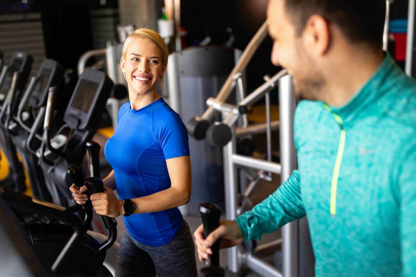
M 126 38 L 120 66 L 130 101 L 121 106 L 104 148 L 113 168 L 103 180 L 106 193 L 91 196 L 97 214 L 124 215 L 116 263 L 120 277 L 197 276 L 191 231 L 177 208 L 191 196 L 188 135 L 180 116 L 156 92 L 167 62 L 168 49 L 156 32 L 142 28 Z M 84 187 L 70 189 L 77 203 L 85 203 Z

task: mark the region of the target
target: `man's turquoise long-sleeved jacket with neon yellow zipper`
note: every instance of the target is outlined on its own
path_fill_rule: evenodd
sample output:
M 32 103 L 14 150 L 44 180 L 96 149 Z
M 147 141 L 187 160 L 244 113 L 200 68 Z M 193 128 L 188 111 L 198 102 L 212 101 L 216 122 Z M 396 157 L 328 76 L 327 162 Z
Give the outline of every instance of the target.
M 244 240 L 306 215 L 316 276 L 416 276 L 416 81 L 386 54 L 345 106 L 300 101 L 294 132 L 298 169 L 235 218 Z

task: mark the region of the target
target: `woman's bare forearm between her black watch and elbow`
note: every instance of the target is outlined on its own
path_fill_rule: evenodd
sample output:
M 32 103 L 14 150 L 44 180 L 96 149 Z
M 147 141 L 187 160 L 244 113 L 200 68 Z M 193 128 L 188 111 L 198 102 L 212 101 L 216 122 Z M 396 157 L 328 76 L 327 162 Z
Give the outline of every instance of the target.
M 190 197 L 190 193 L 171 187 L 151 195 L 131 199 L 136 206 L 133 213 L 154 213 L 176 208 L 188 203 Z

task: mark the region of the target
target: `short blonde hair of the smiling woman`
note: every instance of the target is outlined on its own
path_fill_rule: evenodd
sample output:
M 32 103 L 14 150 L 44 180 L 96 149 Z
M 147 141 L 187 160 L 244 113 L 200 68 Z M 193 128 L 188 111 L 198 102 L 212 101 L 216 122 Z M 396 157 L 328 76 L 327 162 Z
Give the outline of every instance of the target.
M 121 49 L 121 55 L 124 58 L 126 58 L 127 47 L 129 47 L 129 44 L 137 38 L 145 38 L 151 40 L 151 42 L 153 42 L 160 50 L 162 64 L 164 64 L 165 66 L 168 64 L 169 53 L 165 41 L 157 32 L 146 28 L 136 29 L 134 30 L 134 32 L 132 32 L 129 36 L 126 37 L 126 40 L 124 40 L 123 48 Z

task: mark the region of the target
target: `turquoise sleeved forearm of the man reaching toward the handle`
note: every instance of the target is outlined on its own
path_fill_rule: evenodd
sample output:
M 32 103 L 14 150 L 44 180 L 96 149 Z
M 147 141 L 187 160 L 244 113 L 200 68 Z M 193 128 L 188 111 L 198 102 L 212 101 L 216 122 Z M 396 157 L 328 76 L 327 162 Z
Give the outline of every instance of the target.
M 235 218 L 244 241 L 259 240 L 262 234 L 273 232 L 286 223 L 305 216 L 300 193 L 300 172 L 295 170 L 273 194 L 251 211 Z

